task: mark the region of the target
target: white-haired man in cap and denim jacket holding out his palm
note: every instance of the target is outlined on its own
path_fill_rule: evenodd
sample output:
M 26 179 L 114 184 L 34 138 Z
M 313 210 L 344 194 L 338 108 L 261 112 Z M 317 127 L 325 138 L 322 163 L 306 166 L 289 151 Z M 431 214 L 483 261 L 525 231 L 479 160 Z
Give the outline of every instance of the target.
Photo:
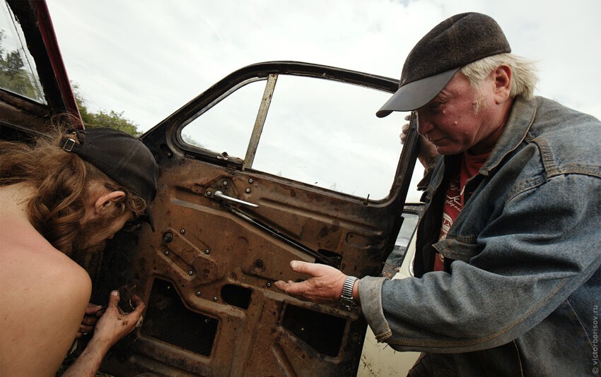
M 378 341 L 424 352 L 410 376 L 595 373 L 601 124 L 533 97 L 535 83 L 492 18 L 463 13 L 433 28 L 377 114 L 414 110 L 440 155 L 415 277 L 356 280 L 292 261 L 312 277 L 276 287 L 360 303 Z

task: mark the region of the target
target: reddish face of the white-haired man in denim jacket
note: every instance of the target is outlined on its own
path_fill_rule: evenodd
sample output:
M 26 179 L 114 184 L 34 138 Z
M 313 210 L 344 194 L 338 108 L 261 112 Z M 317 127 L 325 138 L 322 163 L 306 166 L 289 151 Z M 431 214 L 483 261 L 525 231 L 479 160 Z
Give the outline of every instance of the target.
M 474 148 L 493 126 L 489 124 L 492 89 L 491 78 L 478 90 L 457 72 L 436 97 L 416 110 L 419 134 L 436 145 L 440 155 Z

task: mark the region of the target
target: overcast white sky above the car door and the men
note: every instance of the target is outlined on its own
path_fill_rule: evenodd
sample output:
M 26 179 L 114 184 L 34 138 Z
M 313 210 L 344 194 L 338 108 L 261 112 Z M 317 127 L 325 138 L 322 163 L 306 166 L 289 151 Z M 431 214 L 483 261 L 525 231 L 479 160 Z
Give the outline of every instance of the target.
M 398 78 L 441 20 L 478 11 L 538 61 L 537 94 L 601 119 L 597 0 L 47 0 L 88 108 L 146 131 L 231 71 L 296 60 Z M 373 109 L 375 112 L 377 109 Z

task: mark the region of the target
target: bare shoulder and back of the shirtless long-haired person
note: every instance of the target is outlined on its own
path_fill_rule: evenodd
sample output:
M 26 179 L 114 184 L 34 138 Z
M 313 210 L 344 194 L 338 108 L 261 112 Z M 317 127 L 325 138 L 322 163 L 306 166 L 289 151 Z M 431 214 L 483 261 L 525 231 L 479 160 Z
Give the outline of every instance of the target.
M 54 376 L 86 310 L 90 277 L 37 232 L 25 229 L 11 239 L 3 233 L 0 369 L 7 376 Z

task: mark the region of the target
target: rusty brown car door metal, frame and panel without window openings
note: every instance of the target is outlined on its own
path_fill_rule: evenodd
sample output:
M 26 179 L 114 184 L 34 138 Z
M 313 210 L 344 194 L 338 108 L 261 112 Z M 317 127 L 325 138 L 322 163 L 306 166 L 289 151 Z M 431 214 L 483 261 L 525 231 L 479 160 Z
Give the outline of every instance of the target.
M 338 266 L 344 273 L 358 277 L 381 273 L 402 225 L 399 213 L 402 213 L 416 161 L 416 130 L 412 127 L 406 146 L 399 156 L 390 195 L 380 201 L 370 201 L 258 172 L 244 167 L 240 159 L 224 158 L 219 153 L 183 143 L 179 130 L 189 119 L 202 114 L 236 88 L 238 83 L 274 74 L 337 80 L 390 93 L 395 92 L 398 85 L 398 81 L 391 78 L 318 64 L 293 61 L 253 64 L 218 81 L 145 133 L 141 138 L 161 167 L 158 197 L 153 206 L 156 232 L 143 229 L 134 236 L 122 234 L 115 237 L 112 249 L 105 250 L 102 268 L 96 274 L 93 297 L 105 297 L 107 291 L 115 286 L 137 287 L 136 293 L 149 303 L 145 323 L 150 323 L 153 316 L 158 316 L 153 314 L 156 311 L 151 308 L 156 302 L 153 294 L 156 292 L 157 277 L 161 277 L 165 280 L 164 284 L 161 282 L 163 289 L 167 287 L 177 290 L 182 308 L 208 318 L 205 321 L 217 321 L 218 325 L 214 330 L 216 345 L 211 344 L 212 348 L 206 354 L 194 354 L 184 346 L 172 347 L 173 343 L 166 341 L 164 334 L 160 339 L 156 335 L 148 336 L 152 332 L 149 330 L 151 325 L 142 325 L 129 340 L 122 342 L 108 355 L 103 370 L 128 375 L 151 370 L 175 373 L 177 370 L 182 375 L 250 376 L 263 370 L 262 368 L 283 376 L 313 375 L 317 371 L 332 376 L 356 374 L 366 332 L 366 322 L 360 311 L 345 311 L 336 304 L 317 305 L 301 301 L 277 291 L 272 283 L 279 278 L 306 278 L 289 270 L 287 263 L 291 258 L 315 261 L 315 258 L 303 252 L 302 247 L 322 250 L 319 240 L 315 240 L 317 237 L 314 234 L 317 233 L 325 238 L 338 237 L 339 244 L 344 244 L 349 249 L 354 248 L 355 251 L 348 254 L 334 250 L 342 252 L 337 256 L 342 259 L 342 264 L 339 262 Z M 210 179 L 196 177 L 203 175 L 197 174 L 201 167 L 203 174 L 211 176 Z M 244 190 L 245 187 L 248 188 L 247 191 Z M 255 222 L 247 222 L 245 216 L 237 217 L 235 211 L 228 213 L 226 209 L 229 206 L 214 198 L 217 190 L 243 201 L 259 203 L 259 209 L 255 212 L 246 210 L 243 206 L 243 214 L 250 213 Z M 295 199 L 288 195 L 292 191 L 295 192 Z M 308 209 L 311 205 L 301 208 L 303 201 L 315 201 L 315 198 L 322 203 L 322 208 Z M 345 206 L 351 209 L 338 211 L 348 211 L 347 217 L 343 216 L 340 220 L 338 217 L 329 217 L 329 213 Z M 288 213 L 286 207 L 296 209 Z M 235 208 L 240 210 L 239 207 Z M 310 218 L 312 216 L 317 220 Z M 206 220 L 205 217 L 213 219 L 210 224 L 202 223 Z M 273 225 L 278 225 L 279 220 L 286 220 L 289 225 L 295 217 L 301 217 L 301 223 L 312 220 L 317 225 L 303 228 L 304 224 L 300 224 L 300 230 L 283 227 L 274 231 Z M 372 225 L 370 218 L 378 225 Z M 261 229 L 257 231 L 256 222 L 269 225 L 271 232 L 269 229 L 267 232 Z M 199 225 L 200 223 L 202 224 Z M 221 232 L 220 239 L 223 242 L 218 247 L 215 246 L 216 241 L 212 245 L 211 241 L 206 241 L 206 237 L 211 237 L 206 229 L 211 226 L 215 228 L 211 232 Z M 341 228 L 346 233 L 338 234 Z M 202 236 L 204 239 L 194 236 L 199 232 L 205 232 Z M 245 236 L 232 236 L 240 233 Z M 284 237 L 276 237 L 278 234 Z M 352 237 L 354 239 L 351 240 Z M 240 246 L 240 239 L 247 241 L 247 244 Z M 321 244 L 326 251 L 332 249 L 327 245 L 327 242 L 325 246 Z M 329 246 L 332 246 L 332 242 Z M 182 252 L 186 248 L 188 250 Z M 236 253 L 240 248 L 246 248 L 240 254 L 240 266 L 228 262 L 230 265 L 225 263 L 226 267 L 223 267 L 223 263 L 217 263 L 214 259 L 224 250 Z M 286 255 L 281 256 L 282 253 Z M 331 257 L 329 254 L 325 255 L 327 258 Z M 332 258 L 332 264 L 336 263 L 334 259 Z M 326 259 L 325 263 L 327 261 Z M 146 267 L 148 264 L 154 266 L 153 271 Z M 206 276 L 199 277 L 202 270 Z M 234 302 L 238 299 L 232 297 L 228 301 L 223 290 L 226 286 L 238 289 L 236 292 L 243 295 L 248 292 L 246 304 L 239 306 Z M 262 309 L 254 311 L 249 306 L 244 306 L 257 302 L 261 303 Z M 264 318 L 267 311 L 272 311 L 274 318 L 244 324 L 245 319 L 252 316 Z M 339 343 L 322 348 L 321 343 L 325 338 L 310 339 L 315 333 L 335 327 L 334 325 L 315 327 L 313 335 L 303 337 L 305 328 L 315 325 L 312 322 L 329 320 L 334 325 L 339 325 L 339 333 L 332 335 L 339 337 Z M 245 328 L 243 334 L 247 334 L 249 338 L 250 333 L 253 333 L 252 339 L 234 333 L 232 329 L 237 328 Z M 257 335 L 257 332 L 271 335 Z M 238 341 L 237 344 L 223 345 L 226 341 L 217 337 L 226 338 L 229 342 L 234 339 Z M 224 354 L 228 356 L 223 357 Z M 129 360 L 128 363 L 123 364 L 124 358 Z M 175 362 L 175 359 L 178 361 Z

